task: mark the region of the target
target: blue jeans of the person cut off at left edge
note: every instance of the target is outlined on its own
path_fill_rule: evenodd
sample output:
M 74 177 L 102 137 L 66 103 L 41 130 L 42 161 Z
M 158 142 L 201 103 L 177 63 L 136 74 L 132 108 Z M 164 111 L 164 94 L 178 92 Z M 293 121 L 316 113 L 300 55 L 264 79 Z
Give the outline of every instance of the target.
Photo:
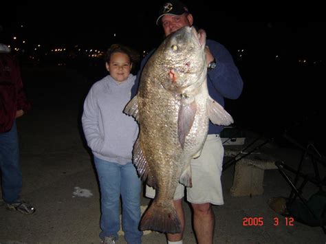
M 19 142 L 16 122 L 12 129 L 0 133 L 0 169 L 2 172 L 2 198 L 6 203 L 19 199 L 22 179 L 19 166 Z

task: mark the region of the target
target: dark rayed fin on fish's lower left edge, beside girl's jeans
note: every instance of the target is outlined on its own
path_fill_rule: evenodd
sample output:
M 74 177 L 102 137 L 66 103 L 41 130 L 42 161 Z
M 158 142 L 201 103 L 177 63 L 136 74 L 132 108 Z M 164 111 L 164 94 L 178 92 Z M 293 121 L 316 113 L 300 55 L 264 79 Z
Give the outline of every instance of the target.
M 146 161 L 146 157 L 144 157 L 144 151 L 142 151 L 139 137 L 133 146 L 133 164 L 137 168 L 140 179 L 142 181 L 146 181 L 146 184 L 149 186 L 156 188 L 156 179 L 151 173 L 151 169 L 149 168 L 149 164 Z

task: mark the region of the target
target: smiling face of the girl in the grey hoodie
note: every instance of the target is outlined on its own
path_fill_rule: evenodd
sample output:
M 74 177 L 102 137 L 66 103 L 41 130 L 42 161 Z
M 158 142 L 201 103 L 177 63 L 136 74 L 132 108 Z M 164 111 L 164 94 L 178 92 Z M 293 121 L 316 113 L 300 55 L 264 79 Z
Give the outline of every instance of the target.
M 127 54 L 115 52 L 111 54 L 110 61 L 109 63 L 105 63 L 105 66 L 114 80 L 122 82 L 127 80 L 132 64 Z

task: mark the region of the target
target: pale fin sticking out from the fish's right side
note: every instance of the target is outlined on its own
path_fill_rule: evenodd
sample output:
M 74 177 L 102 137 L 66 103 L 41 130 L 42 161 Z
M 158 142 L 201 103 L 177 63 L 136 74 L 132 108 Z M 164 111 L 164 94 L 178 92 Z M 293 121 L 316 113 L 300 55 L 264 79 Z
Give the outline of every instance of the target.
M 212 98 L 207 100 L 207 111 L 208 117 L 213 124 L 229 125 L 233 123 L 232 116 Z

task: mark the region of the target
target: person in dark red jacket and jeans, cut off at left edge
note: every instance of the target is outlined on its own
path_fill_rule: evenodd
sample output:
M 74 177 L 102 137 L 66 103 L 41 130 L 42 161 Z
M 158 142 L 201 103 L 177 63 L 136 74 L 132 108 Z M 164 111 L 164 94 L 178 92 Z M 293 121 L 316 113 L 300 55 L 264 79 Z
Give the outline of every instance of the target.
M 0 26 L 0 32 L 1 32 Z M 2 198 L 8 210 L 33 214 L 35 208 L 20 199 L 22 188 L 19 166 L 19 142 L 16 119 L 30 109 L 23 92 L 19 65 L 10 55 L 10 48 L 0 43 L 0 170 Z

